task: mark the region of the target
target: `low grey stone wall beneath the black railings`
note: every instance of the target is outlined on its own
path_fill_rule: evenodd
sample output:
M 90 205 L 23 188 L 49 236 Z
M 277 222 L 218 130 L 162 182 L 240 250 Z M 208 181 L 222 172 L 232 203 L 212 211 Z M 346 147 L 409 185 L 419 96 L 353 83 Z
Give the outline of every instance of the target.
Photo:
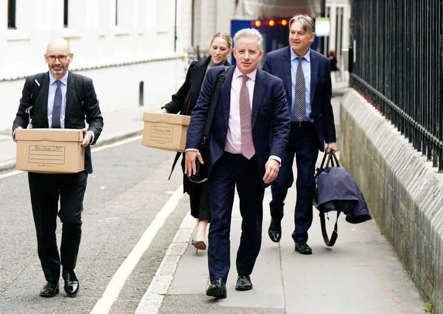
M 340 162 L 434 314 L 443 313 L 443 174 L 354 90 L 340 119 Z

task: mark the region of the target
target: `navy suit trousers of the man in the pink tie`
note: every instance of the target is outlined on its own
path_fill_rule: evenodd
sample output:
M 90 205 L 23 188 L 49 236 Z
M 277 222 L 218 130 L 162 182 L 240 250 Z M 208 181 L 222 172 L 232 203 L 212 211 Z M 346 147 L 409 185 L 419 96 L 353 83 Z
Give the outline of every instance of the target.
M 230 268 L 230 226 L 235 188 L 240 199 L 242 234 L 236 266 L 240 275 L 251 275 L 261 247 L 264 187 L 257 159 L 224 152 L 208 178 L 212 221 L 208 235 L 208 266 L 211 282 L 227 281 Z

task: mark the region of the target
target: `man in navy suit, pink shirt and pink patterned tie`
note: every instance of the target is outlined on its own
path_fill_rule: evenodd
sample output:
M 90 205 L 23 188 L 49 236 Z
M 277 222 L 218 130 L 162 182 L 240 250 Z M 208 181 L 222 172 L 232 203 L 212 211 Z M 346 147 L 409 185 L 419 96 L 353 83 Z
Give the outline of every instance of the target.
M 230 268 L 229 232 L 235 188 L 240 199 L 242 235 L 237 252 L 236 290 L 250 290 L 250 275 L 261 246 L 264 189 L 277 177 L 289 137 L 289 113 L 281 79 L 259 70 L 263 38 L 254 29 L 234 36 L 236 66 L 221 87 L 209 134 L 208 189 L 212 221 L 209 227 L 208 296 L 225 298 Z M 203 129 L 212 95 L 224 67 L 206 74 L 192 110 L 186 141 L 185 173 L 200 162 Z

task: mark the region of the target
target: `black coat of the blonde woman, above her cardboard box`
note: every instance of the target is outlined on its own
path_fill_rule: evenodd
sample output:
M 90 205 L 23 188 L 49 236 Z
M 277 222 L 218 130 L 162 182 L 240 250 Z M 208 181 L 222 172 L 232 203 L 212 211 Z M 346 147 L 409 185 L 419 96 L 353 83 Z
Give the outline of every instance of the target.
M 211 62 L 211 56 L 193 61 L 189 68 L 188 72 L 186 73 L 186 79 L 183 85 L 180 87 L 180 89 L 177 91 L 177 93 L 172 95 L 172 101 L 168 102 L 164 107 L 169 113 L 179 113 L 182 109 L 183 101 L 185 100 L 186 93 L 188 92 L 189 88 L 190 96 L 191 96 L 191 107 L 190 111 L 195 107 L 195 104 L 197 103 L 198 95 L 200 94 L 201 90 L 201 84 L 203 83 L 203 79 L 205 78 L 206 68 L 208 67 L 208 64 Z M 230 66 L 231 63 L 229 63 L 227 60 L 224 61 L 223 65 Z M 181 115 L 190 116 L 189 112 L 180 112 Z

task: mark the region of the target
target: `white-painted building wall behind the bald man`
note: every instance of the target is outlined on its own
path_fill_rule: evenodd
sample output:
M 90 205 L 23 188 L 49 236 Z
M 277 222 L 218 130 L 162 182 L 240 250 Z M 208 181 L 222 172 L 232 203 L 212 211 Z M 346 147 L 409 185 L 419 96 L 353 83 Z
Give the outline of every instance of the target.
M 177 2 L 190 12 L 190 0 Z M 48 70 L 53 38 L 69 41 L 69 68 L 94 80 L 102 112 L 138 106 L 141 81 L 145 105 L 158 106 L 183 83 L 191 17 L 178 12 L 176 22 L 175 0 L 119 0 L 117 7 L 116 0 L 69 0 L 67 28 L 63 1 L 16 0 L 15 30 L 7 29 L 7 5 L 0 0 L 0 130 L 12 125 L 24 78 Z

